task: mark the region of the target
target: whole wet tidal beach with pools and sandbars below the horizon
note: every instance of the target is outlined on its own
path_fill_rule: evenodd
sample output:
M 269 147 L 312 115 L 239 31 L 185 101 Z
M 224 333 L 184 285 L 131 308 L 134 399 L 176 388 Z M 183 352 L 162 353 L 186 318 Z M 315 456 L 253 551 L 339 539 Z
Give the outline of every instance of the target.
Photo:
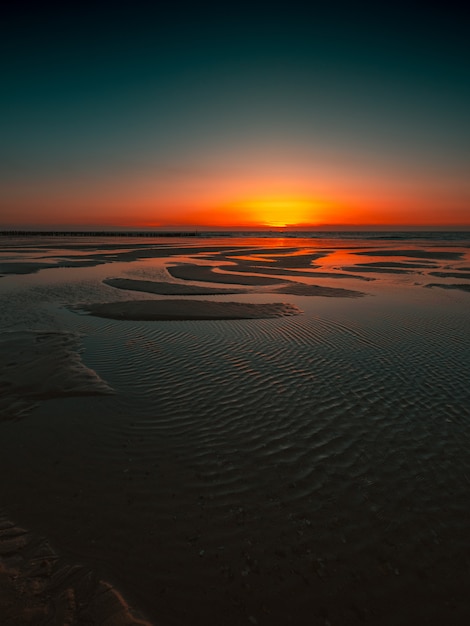
M 468 233 L 0 238 L 0 622 L 467 623 L 469 290 Z

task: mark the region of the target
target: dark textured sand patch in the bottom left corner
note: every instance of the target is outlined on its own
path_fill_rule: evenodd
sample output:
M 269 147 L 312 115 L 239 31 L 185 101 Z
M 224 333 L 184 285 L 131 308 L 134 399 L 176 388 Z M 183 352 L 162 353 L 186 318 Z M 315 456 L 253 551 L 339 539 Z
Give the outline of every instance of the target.
M 0 520 L 0 615 L 11 626 L 151 626 L 110 584 L 64 563 L 44 539 Z

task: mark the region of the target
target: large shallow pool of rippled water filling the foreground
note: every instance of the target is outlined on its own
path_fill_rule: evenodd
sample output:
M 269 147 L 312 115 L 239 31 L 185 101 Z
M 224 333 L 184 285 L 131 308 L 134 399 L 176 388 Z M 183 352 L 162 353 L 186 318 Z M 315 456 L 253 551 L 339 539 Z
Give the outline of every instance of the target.
M 156 623 L 468 623 L 466 294 L 405 281 L 249 322 L 60 310 L 118 393 L 4 423 L 3 501 Z

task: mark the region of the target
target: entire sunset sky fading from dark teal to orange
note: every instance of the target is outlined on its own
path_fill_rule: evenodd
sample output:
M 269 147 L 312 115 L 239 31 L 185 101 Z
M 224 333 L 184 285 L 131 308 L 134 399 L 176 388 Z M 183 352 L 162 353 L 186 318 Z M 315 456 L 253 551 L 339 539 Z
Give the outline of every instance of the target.
M 468 18 L 324 4 L 15 3 L 0 228 L 470 228 Z

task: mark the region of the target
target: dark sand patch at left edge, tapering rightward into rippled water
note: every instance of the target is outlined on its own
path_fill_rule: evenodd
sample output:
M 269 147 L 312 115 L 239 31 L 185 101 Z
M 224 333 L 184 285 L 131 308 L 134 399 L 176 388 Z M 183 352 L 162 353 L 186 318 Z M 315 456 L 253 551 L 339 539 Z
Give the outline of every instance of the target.
M 0 335 L 0 419 L 21 417 L 48 398 L 112 393 L 82 363 L 77 349 L 78 337 L 72 333 Z

